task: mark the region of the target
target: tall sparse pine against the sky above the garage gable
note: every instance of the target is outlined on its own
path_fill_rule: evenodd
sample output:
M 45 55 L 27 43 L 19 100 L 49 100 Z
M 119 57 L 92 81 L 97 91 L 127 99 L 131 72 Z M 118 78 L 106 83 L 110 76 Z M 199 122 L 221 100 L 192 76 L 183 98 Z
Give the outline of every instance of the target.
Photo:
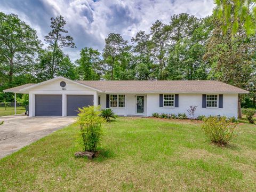
M 50 44 L 49 48 L 52 50 L 51 70 L 49 71 L 51 78 L 54 77 L 55 70 L 58 67 L 56 62 L 58 49 L 62 47 L 75 47 L 73 37 L 69 35 L 63 36 L 63 34 L 68 33 L 68 31 L 64 29 L 65 25 L 66 21 L 61 15 L 57 16 L 56 18 L 51 18 L 50 27 L 52 30 L 44 37 L 45 41 Z

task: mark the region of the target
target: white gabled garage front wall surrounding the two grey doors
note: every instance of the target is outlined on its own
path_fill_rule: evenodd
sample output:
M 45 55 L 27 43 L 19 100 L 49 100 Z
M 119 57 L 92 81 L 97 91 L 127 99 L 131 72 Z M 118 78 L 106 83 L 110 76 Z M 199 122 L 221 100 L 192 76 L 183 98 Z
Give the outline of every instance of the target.
M 35 95 L 36 94 L 61 94 L 62 95 L 62 116 L 67 116 L 67 95 L 94 95 L 93 103 L 97 106 L 97 91 L 84 87 L 82 85 L 65 81 L 65 90 L 62 90 L 60 82 L 63 79 L 57 79 L 56 81 L 43 84 L 41 86 L 34 87 L 29 90 L 29 116 L 35 116 Z

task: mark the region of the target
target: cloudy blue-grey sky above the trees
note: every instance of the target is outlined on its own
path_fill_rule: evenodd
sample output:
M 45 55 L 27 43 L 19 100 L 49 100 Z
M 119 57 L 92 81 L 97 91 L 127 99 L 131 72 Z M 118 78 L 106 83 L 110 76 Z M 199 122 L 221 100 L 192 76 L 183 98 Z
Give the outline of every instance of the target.
M 62 15 L 77 47 L 63 49 L 72 61 L 86 46 L 101 52 L 109 33 L 119 33 L 130 41 L 139 30 L 150 33 L 156 20 L 168 24 L 173 14 L 185 12 L 203 18 L 211 15 L 213 7 L 213 0 L 0 0 L 0 11 L 18 14 L 37 30 L 44 44 L 51 17 Z

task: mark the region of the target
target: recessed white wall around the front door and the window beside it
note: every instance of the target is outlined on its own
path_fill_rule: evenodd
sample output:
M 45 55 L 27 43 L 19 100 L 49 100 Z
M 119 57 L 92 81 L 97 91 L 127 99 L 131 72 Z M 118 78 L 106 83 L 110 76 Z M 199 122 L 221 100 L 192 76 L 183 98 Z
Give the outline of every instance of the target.
M 100 101 L 101 101 L 101 108 L 106 108 L 106 93 L 98 93 L 100 95 Z M 147 116 L 147 94 L 131 94 L 131 93 L 111 93 L 111 94 L 125 94 L 125 107 L 124 108 L 118 108 L 118 107 L 109 107 L 114 111 L 116 115 L 143 115 Z M 144 95 L 145 102 L 144 102 L 144 113 L 143 114 L 137 114 L 136 113 L 136 95 Z

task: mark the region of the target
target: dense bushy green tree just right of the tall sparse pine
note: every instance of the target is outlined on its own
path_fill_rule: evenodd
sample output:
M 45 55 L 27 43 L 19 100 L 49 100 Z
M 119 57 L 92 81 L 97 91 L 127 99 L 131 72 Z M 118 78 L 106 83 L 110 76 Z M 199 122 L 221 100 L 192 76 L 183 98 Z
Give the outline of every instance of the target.
M 82 80 L 99 80 L 101 73 L 100 52 L 91 47 L 84 47 L 80 51 L 80 58 L 76 60 L 77 75 Z

